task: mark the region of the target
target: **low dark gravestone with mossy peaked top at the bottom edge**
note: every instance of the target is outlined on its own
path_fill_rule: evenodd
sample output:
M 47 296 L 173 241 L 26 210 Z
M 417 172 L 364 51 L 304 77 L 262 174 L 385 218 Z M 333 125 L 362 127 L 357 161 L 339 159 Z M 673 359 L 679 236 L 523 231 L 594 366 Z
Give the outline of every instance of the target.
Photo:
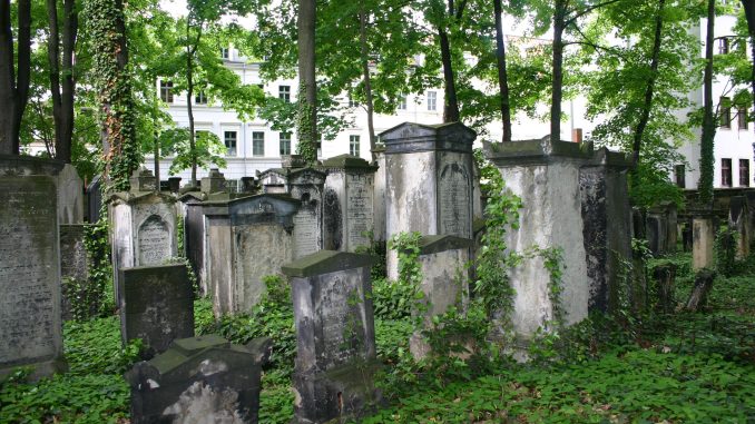
M 269 338 L 238 346 L 216 335 L 177 339 L 126 373 L 131 423 L 256 424 Z

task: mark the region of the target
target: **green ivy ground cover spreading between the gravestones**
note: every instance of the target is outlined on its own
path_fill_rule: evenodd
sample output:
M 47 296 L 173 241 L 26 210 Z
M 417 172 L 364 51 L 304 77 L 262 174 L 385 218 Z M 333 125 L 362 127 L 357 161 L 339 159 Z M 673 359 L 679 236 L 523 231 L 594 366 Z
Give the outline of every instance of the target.
M 675 298 L 686 300 L 694 273 L 689 254 L 658 262 L 678 266 Z M 592 316 L 529 346 L 531 361 L 504 355 L 448 355 L 412 361 L 409 292 L 374 284 L 378 379 L 386 405 L 366 423 L 751 422 L 755 418 L 755 257 L 719 275 L 700 313 L 626 313 Z M 287 423 L 296 341 L 287 284 L 268 280 L 269 294 L 247 316 L 216 322 L 205 299 L 195 302 L 198 334 L 235 343 L 262 335 L 275 347 L 263 376 L 261 423 Z M 455 323 L 473 333 L 483 317 Z M 453 328 L 444 328 L 453 332 Z M 441 334 L 448 337 L 448 334 Z M 121 348 L 117 316 L 66 322 L 69 372 L 23 383 L 23 368 L 0 384 L 0 423 L 128 423 L 122 378 L 139 344 Z M 494 351 L 493 351 L 494 352 Z

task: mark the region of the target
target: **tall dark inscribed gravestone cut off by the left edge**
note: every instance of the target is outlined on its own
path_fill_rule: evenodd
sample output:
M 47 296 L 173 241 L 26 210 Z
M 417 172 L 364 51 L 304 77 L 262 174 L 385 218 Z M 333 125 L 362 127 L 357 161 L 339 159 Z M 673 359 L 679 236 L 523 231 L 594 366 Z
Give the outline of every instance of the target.
M 56 175 L 62 164 L 0 155 L 0 377 L 65 368 Z

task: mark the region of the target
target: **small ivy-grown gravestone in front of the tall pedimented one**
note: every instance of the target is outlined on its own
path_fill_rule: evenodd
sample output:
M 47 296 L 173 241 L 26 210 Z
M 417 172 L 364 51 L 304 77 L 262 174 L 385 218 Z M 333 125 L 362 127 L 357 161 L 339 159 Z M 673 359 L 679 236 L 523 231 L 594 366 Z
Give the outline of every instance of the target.
M 420 289 L 424 294 L 424 328 L 432 328 L 432 317 L 447 313 L 451 307 L 463 309 L 469 293 L 469 277 L 465 265 L 470 259 L 472 240 L 455 236 L 424 236 L 420 239 L 418 262 L 422 273 Z M 468 341 L 448 341 L 467 345 Z M 414 332 L 409 343 L 414 359 L 421 359 L 431 353 L 430 345 L 419 332 Z

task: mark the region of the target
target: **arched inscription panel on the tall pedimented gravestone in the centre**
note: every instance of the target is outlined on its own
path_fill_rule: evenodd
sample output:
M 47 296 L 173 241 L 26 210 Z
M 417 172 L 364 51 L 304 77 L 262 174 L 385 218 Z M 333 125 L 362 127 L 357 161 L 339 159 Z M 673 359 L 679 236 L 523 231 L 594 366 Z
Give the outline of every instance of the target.
M 470 187 L 468 172 L 460 164 L 448 164 L 438 184 L 440 233 L 469 238 Z

